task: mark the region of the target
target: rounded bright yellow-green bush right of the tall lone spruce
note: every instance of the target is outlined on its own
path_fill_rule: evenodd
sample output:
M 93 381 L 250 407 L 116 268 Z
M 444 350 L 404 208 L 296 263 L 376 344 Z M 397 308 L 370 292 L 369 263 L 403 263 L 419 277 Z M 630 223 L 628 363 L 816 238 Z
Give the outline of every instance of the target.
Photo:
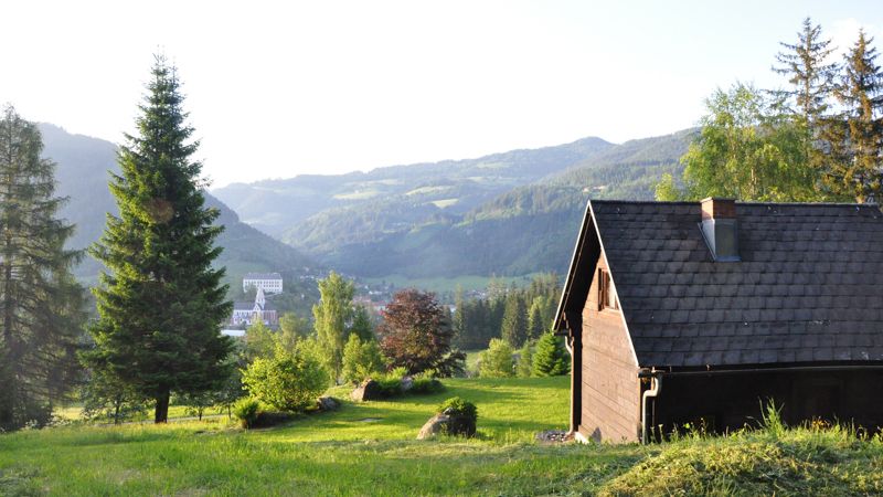
M 307 349 L 276 347 L 269 358 L 257 358 L 243 371 L 243 385 L 258 401 L 284 412 L 312 405 L 328 388 L 328 372 Z

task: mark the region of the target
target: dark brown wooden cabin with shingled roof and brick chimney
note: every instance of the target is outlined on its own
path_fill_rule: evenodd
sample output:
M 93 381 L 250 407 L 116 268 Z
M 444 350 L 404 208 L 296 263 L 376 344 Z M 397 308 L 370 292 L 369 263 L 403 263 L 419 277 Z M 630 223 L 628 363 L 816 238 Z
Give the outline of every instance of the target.
M 789 424 L 883 426 L 875 205 L 592 201 L 555 318 L 571 430 L 723 432 L 774 400 Z

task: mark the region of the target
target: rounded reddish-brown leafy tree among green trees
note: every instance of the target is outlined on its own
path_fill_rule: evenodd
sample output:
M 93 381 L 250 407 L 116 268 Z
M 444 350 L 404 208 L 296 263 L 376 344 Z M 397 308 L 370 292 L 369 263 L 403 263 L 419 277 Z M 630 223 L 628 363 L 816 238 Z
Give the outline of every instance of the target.
M 450 349 L 454 330 L 435 294 L 413 288 L 396 293 L 377 331 L 393 368 L 404 367 L 411 373 L 435 370 L 442 377 L 462 371 L 466 355 Z

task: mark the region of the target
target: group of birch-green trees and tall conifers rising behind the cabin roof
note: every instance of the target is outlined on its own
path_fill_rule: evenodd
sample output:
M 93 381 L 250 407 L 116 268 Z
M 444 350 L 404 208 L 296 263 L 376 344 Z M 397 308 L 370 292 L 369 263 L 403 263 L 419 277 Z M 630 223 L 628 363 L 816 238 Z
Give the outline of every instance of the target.
M 749 201 L 879 202 L 883 186 L 883 72 L 863 30 L 841 61 L 807 18 L 781 43 L 777 89 L 736 83 L 706 101 L 701 130 L 663 176 L 659 200 L 731 197 Z

